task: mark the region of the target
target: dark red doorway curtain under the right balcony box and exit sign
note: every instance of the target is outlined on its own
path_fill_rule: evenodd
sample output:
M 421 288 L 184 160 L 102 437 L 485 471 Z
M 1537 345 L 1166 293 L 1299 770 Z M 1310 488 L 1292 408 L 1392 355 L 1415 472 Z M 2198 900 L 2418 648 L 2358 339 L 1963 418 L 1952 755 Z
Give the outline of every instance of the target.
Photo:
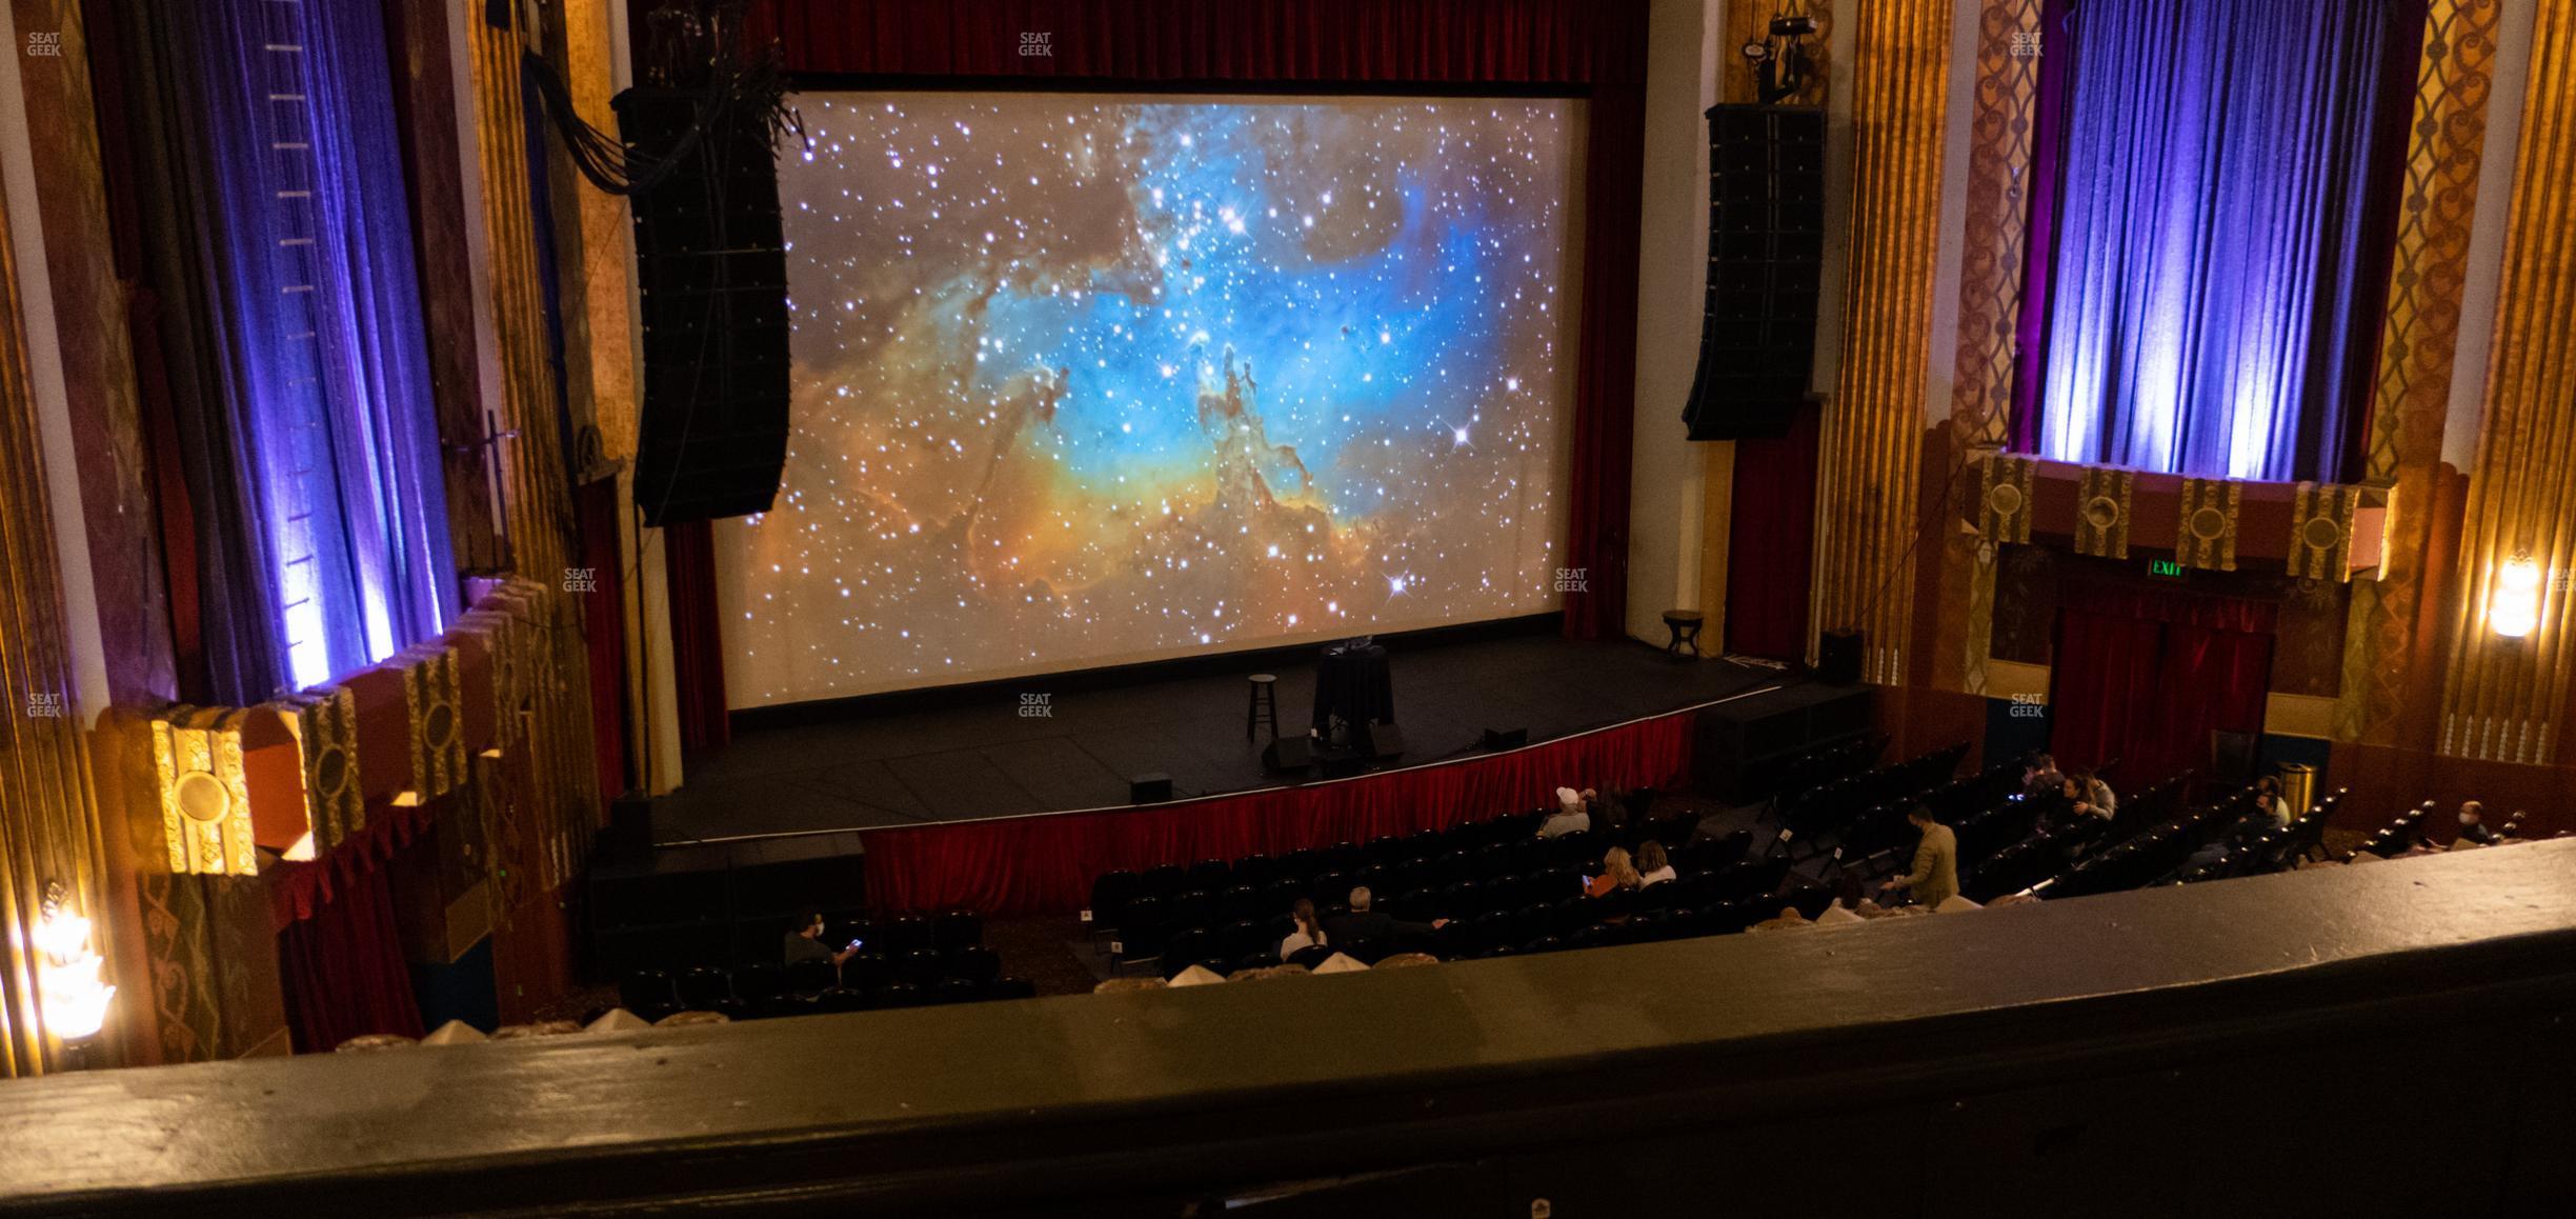
M 2208 768 L 2213 732 L 2262 732 L 2275 606 L 2074 588 L 2058 613 L 2050 753 L 2120 760 L 2128 786 Z

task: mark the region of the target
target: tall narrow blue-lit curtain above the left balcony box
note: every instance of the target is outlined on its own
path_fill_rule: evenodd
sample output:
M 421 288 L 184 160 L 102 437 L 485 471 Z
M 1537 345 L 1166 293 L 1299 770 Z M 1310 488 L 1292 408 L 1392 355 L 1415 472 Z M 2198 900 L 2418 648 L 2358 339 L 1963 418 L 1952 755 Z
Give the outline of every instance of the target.
M 410 196 L 374 3 L 201 0 L 196 232 L 273 688 L 438 634 L 456 611 Z M 265 693 L 265 691 L 234 691 Z

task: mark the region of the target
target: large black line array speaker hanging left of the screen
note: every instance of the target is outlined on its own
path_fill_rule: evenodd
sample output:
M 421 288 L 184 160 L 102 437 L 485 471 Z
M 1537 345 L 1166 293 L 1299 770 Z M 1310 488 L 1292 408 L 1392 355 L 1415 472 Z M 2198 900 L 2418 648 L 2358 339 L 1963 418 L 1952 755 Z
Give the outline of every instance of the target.
M 788 456 L 788 255 L 768 121 L 716 113 L 685 142 L 698 93 L 616 98 L 626 147 L 670 178 L 634 196 L 644 307 L 636 505 L 649 526 L 765 513 Z

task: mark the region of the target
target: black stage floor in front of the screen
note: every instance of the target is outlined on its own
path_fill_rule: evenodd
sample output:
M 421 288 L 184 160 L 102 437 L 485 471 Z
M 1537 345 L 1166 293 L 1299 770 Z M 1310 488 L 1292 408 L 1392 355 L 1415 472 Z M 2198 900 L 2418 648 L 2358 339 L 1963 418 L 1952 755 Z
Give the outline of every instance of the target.
M 1489 727 L 1528 727 L 1540 742 L 1795 680 L 1672 660 L 1633 639 L 1538 634 L 1391 642 L 1388 667 L 1406 742 L 1391 765 L 1468 755 Z M 989 706 L 742 732 L 688 758 L 685 786 L 654 801 L 654 843 L 1123 807 L 1128 778 L 1149 771 L 1172 776 L 1175 799 L 1278 786 L 1262 773 L 1270 732 L 1244 740 L 1244 675 L 1257 670 L 1280 678 L 1280 727 L 1303 732 L 1314 662 L 1054 693 L 1046 716 L 1023 716 L 1007 693 Z

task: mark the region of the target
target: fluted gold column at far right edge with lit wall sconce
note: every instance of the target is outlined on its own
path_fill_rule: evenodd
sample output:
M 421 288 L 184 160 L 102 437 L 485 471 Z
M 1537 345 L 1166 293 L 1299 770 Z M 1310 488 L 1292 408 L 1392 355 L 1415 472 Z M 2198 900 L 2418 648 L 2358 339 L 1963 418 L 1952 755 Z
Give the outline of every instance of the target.
M 2543 564 L 2540 621 L 2499 637 L 2488 600 L 2506 559 Z M 2478 459 L 2460 528 L 2460 590 L 2442 691 L 2442 753 L 2558 760 L 2576 652 L 2576 0 L 2545 0 L 2514 152 L 2504 286 L 2488 350 Z

